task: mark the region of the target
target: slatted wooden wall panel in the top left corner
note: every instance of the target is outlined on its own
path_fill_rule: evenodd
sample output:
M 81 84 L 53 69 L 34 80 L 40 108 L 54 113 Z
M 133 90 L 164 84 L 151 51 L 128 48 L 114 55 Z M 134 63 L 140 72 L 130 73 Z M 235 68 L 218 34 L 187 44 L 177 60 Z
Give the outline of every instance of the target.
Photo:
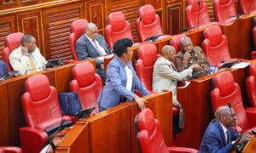
M 15 16 L 0 17 L 0 59 L 2 59 L 2 52 L 5 46 L 5 37 L 15 31 Z

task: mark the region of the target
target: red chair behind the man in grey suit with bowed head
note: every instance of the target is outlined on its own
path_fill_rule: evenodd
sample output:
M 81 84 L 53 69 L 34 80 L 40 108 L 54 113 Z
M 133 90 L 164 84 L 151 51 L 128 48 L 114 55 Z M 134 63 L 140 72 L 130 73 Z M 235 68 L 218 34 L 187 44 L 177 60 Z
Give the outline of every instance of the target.
M 74 20 L 71 24 L 71 34 L 69 35 L 68 40 L 71 52 L 73 54 L 73 59 L 75 60 L 79 60 L 76 53 L 75 44 L 79 37 L 81 37 L 81 35 L 84 33 L 87 24 L 88 21 L 84 19 Z

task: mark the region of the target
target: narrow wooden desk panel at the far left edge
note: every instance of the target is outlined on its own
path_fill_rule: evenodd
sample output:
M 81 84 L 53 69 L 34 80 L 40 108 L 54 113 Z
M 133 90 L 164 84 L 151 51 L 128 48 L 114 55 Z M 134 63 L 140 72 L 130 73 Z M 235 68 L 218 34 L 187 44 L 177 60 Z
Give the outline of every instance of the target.
M 9 138 L 9 103 L 7 84 L 0 82 L 0 145 L 8 145 Z

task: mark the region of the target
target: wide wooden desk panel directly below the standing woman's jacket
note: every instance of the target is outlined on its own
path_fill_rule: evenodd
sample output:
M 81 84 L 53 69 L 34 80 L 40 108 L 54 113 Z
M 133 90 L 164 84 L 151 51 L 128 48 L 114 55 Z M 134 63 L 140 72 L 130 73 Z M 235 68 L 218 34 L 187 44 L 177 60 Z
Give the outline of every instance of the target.
M 130 107 L 117 105 L 84 120 L 90 126 L 90 153 L 131 152 Z

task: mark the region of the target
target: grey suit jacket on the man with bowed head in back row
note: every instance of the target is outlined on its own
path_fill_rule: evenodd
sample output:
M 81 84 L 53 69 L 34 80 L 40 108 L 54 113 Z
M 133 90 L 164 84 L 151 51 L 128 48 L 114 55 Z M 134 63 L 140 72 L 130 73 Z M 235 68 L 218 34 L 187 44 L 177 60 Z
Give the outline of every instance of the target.
M 108 50 L 108 44 L 102 35 L 96 35 L 96 41 L 104 48 L 106 54 L 111 54 Z M 91 44 L 90 40 L 83 34 L 76 42 L 76 52 L 79 60 L 95 58 L 100 56 L 96 48 Z

